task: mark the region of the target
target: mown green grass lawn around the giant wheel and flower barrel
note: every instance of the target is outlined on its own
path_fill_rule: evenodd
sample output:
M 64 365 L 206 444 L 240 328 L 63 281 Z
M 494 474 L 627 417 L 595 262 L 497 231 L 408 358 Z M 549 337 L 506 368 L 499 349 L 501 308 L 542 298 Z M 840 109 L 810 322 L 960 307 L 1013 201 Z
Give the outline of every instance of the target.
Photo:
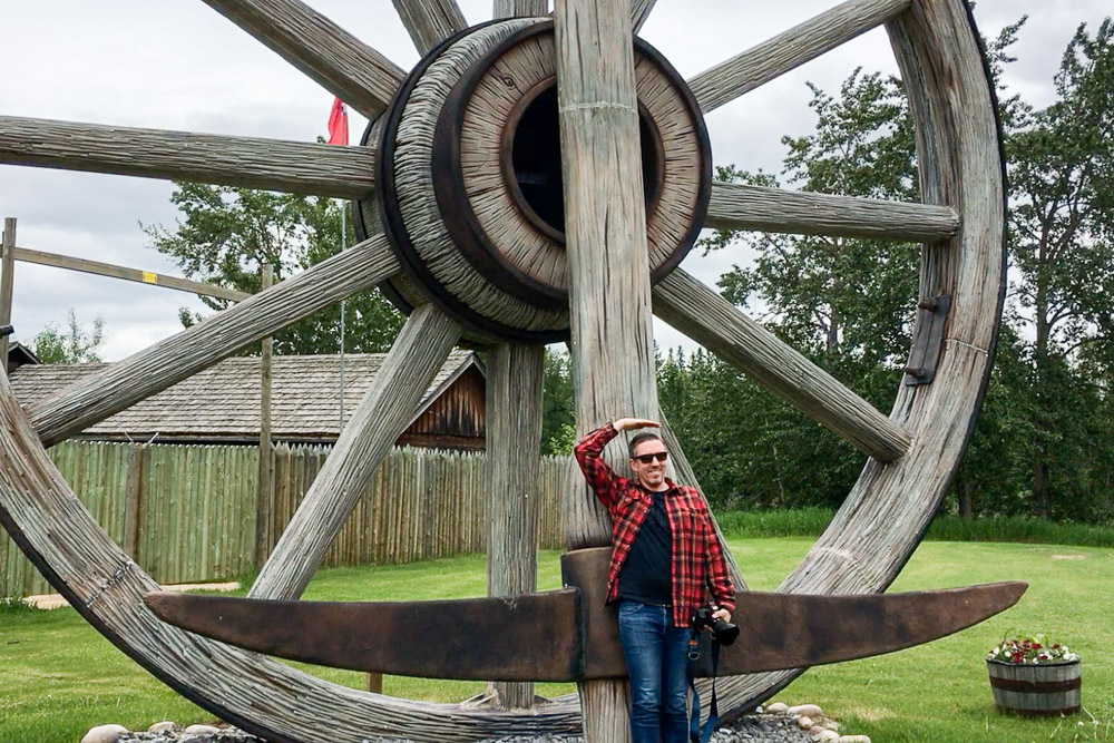
M 755 589 L 771 589 L 808 550 L 810 539 L 730 539 Z M 559 585 L 557 553 L 540 558 L 539 585 Z M 1048 545 L 922 544 L 893 590 L 946 588 L 1024 579 L 1028 593 L 1009 612 L 927 646 L 813 668 L 782 691 L 790 704 L 813 702 L 844 732 L 883 741 L 1114 741 L 1114 550 Z M 305 598 L 400 600 L 480 596 L 481 556 L 417 565 L 322 570 Z M 436 587 L 436 588 L 434 588 Z M 983 654 L 1012 630 L 1062 637 L 1084 659 L 1086 713 L 1027 720 L 994 710 Z M 352 672 L 310 668 L 351 686 Z M 482 683 L 389 676 L 388 694 L 458 701 Z M 541 684 L 558 695 L 571 685 Z M 0 605 L 0 742 L 76 743 L 92 725 L 116 722 L 209 722 L 206 713 L 164 687 L 92 630 L 72 609 L 40 612 Z M 1079 724 L 1082 723 L 1082 724 Z

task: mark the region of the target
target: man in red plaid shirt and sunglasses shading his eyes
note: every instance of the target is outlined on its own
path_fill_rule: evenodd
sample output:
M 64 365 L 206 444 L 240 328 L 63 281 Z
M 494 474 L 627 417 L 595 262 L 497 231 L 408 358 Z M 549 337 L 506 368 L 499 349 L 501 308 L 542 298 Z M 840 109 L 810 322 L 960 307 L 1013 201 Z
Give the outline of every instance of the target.
M 629 443 L 634 480 L 616 475 L 600 454 L 620 431 L 661 423 L 620 418 L 587 434 L 576 460 L 612 517 L 607 603 L 618 606 L 619 642 L 631 676 L 633 743 L 688 741 L 686 674 L 693 612 L 707 605 L 731 620 L 735 589 L 707 504 L 694 488 L 665 477 L 668 453 L 653 432 Z

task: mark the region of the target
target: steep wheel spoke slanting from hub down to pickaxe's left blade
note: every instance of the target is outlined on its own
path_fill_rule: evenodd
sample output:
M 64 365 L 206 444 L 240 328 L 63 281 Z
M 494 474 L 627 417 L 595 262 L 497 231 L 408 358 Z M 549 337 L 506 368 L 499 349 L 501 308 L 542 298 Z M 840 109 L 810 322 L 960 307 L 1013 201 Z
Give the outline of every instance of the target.
M 383 457 L 407 426 L 460 339 L 460 324 L 427 304 L 416 309 L 352 419 L 248 592 L 295 599 L 305 590 Z

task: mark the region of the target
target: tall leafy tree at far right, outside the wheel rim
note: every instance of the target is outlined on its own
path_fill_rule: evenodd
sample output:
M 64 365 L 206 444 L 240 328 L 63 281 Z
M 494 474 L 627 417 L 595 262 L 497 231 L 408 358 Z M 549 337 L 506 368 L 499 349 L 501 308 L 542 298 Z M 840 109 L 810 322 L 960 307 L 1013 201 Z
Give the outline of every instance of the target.
M 1054 514 L 1058 412 L 1086 397 L 1078 363 L 1114 359 L 1114 23 L 1081 25 L 1055 77 L 1057 100 L 1009 137 L 1014 299 L 1032 323 L 1036 395 L 1029 468 L 1036 512 Z M 1069 423 L 1069 428 L 1077 428 Z M 1082 453 L 1082 452 L 1078 452 Z M 1062 495 L 1067 495 L 1063 493 Z

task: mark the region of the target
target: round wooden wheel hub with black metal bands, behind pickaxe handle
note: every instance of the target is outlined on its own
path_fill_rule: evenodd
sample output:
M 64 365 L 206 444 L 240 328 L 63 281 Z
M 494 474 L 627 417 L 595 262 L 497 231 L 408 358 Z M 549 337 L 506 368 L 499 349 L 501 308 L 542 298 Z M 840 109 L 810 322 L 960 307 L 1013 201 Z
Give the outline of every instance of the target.
M 707 212 L 711 155 L 684 79 L 636 41 L 652 278 L 692 247 Z M 431 50 L 363 141 L 381 153 L 377 213 L 413 284 L 473 334 L 549 342 L 568 331 L 568 266 L 551 22 L 470 29 Z M 421 296 L 389 292 L 404 310 Z

